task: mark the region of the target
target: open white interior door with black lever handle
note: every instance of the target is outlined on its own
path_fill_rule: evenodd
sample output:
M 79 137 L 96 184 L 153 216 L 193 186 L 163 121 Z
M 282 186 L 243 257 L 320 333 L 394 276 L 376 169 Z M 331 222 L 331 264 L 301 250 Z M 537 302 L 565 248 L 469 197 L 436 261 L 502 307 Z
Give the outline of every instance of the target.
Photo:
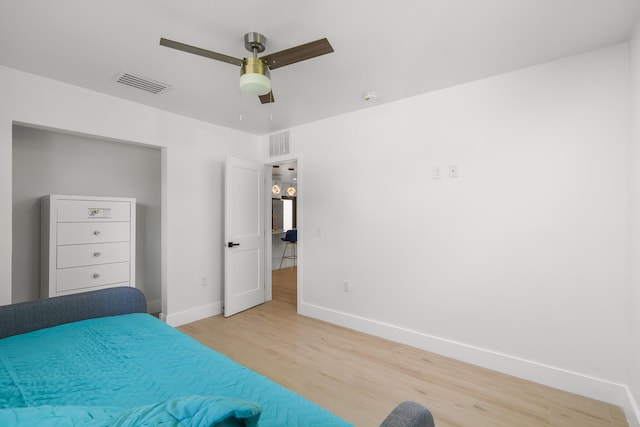
M 265 301 L 263 171 L 262 163 L 227 157 L 224 242 L 225 317 Z

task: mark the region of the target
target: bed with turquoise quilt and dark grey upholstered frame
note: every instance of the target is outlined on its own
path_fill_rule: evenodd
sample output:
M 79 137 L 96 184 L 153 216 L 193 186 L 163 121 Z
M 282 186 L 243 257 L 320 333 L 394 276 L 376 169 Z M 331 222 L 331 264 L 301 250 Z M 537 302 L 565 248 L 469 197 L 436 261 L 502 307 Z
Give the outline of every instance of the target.
M 0 425 L 350 426 L 111 288 L 0 307 Z M 433 426 L 403 402 L 384 427 Z

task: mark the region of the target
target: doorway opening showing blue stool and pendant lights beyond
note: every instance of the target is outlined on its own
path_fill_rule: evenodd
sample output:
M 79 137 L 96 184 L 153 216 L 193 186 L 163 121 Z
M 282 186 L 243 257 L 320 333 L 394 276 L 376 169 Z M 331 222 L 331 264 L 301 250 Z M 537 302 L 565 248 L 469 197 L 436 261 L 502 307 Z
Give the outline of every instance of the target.
M 298 162 L 271 165 L 272 300 L 297 311 Z

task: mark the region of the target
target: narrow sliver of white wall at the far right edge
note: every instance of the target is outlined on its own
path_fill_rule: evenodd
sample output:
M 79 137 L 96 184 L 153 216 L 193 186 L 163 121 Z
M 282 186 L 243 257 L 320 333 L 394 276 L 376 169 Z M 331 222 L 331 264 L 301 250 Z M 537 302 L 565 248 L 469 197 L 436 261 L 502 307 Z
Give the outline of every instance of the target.
M 629 168 L 631 203 L 631 279 L 629 287 L 630 374 L 629 387 L 635 398 L 638 414 L 636 426 L 640 426 L 640 23 L 636 25 L 630 43 L 631 53 L 631 144 Z

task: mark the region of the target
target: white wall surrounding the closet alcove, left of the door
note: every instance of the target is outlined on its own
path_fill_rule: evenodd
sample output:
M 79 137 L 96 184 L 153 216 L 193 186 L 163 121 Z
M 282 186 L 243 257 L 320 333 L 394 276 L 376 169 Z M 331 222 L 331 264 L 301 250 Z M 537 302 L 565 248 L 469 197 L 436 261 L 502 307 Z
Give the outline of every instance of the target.
M 259 158 L 259 139 L 6 67 L 0 67 L 0 93 L 0 197 L 6 201 L 14 122 L 163 148 L 163 312 L 171 324 L 218 312 L 224 159 Z M 11 302 L 12 237 L 11 203 L 3 203 L 0 304 Z

